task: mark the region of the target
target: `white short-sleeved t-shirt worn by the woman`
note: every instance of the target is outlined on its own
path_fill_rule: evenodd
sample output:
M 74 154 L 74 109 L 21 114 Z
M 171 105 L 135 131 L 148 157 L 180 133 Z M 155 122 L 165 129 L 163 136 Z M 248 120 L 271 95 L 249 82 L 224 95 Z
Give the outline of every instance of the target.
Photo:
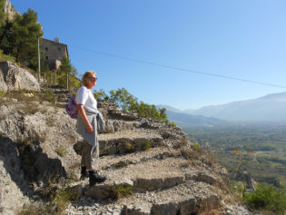
M 98 112 L 97 111 L 97 102 L 94 99 L 92 91 L 88 90 L 85 86 L 80 87 L 75 96 L 75 103 L 84 104 L 84 109 Z

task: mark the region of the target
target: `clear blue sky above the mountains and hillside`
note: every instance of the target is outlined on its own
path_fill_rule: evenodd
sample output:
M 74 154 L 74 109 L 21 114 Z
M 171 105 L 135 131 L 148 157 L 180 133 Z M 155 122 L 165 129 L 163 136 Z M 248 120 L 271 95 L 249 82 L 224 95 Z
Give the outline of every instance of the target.
M 254 99 L 286 88 L 284 0 L 11 0 L 38 13 L 44 38 L 68 45 L 79 73 L 97 89 L 124 87 L 144 103 L 196 109 Z M 140 61 L 180 67 L 174 70 Z

